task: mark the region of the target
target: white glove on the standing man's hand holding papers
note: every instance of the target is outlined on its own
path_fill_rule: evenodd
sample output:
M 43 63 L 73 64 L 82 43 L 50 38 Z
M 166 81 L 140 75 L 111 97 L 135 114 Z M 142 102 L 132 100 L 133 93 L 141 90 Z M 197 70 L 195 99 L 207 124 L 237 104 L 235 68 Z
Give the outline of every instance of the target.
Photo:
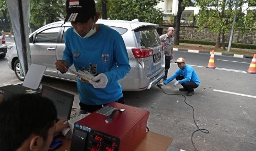
M 108 79 L 107 75 L 101 73 L 94 77 L 92 80 L 89 80 L 89 83 L 94 86 L 94 88 L 105 88 L 107 85 Z

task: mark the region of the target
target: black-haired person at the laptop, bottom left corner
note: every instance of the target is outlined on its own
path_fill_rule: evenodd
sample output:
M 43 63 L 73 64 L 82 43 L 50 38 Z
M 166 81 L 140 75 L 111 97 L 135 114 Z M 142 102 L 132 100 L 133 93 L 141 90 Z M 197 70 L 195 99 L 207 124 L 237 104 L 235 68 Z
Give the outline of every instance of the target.
M 55 105 L 46 97 L 21 94 L 0 103 L 0 150 L 48 150 L 53 135 L 66 120 L 56 123 Z

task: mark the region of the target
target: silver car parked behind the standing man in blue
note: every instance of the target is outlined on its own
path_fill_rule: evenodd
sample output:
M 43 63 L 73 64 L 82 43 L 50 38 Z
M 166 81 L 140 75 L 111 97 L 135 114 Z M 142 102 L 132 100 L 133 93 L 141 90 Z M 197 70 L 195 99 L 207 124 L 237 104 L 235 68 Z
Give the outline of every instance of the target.
M 159 35 L 158 25 L 139 21 L 98 20 L 98 24 L 105 24 L 118 31 L 126 44 L 130 72 L 120 80 L 124 91 L 140 91 L 150 89 L 162 79 L 165 72 L 164 52 Z M 62 74 L 57 71 L 55 62 L 62 59 L 64 33 L 72 27 L 70 22 L 53 22 L 30 34 L 30 51 L 32 63 L 47 66 L 44 73 L 47 77 L 76 82 L 77 77 L 72 73 Z M 20 80 L 24 79 L 18 60 L 15 45 L 8 48 L 8 65 L 14 70 Z M 75 69 L 74 66 L 71 68 Z

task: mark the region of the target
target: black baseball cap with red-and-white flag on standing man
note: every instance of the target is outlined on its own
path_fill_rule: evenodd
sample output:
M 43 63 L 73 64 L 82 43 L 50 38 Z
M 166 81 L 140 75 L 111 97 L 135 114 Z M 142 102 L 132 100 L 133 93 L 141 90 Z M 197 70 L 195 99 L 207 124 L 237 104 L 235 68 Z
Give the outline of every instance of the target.
M 95 15 L 94 0 L 67 0 L 66 1 L 66 21 L 87 22 Z

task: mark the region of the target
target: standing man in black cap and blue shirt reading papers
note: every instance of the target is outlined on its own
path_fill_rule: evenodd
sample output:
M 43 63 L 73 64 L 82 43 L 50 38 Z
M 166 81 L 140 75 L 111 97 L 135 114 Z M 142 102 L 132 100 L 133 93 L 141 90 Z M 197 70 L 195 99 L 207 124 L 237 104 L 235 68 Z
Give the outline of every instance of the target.
M 100 13 L 94 0 L 66 1 L 66 21 L 72 27 L 65 33 L 62 60 L 56 68 L 66 73 L 74 64 L 76 71 L 89 71 L 91 80 L 78 78 L 80 109 L 94 112 L 111 102 L 124 103 L 122 86 L 118 80 L 130 71 L 129 58 L 122 36 L 112 28 L 96 24 Z

